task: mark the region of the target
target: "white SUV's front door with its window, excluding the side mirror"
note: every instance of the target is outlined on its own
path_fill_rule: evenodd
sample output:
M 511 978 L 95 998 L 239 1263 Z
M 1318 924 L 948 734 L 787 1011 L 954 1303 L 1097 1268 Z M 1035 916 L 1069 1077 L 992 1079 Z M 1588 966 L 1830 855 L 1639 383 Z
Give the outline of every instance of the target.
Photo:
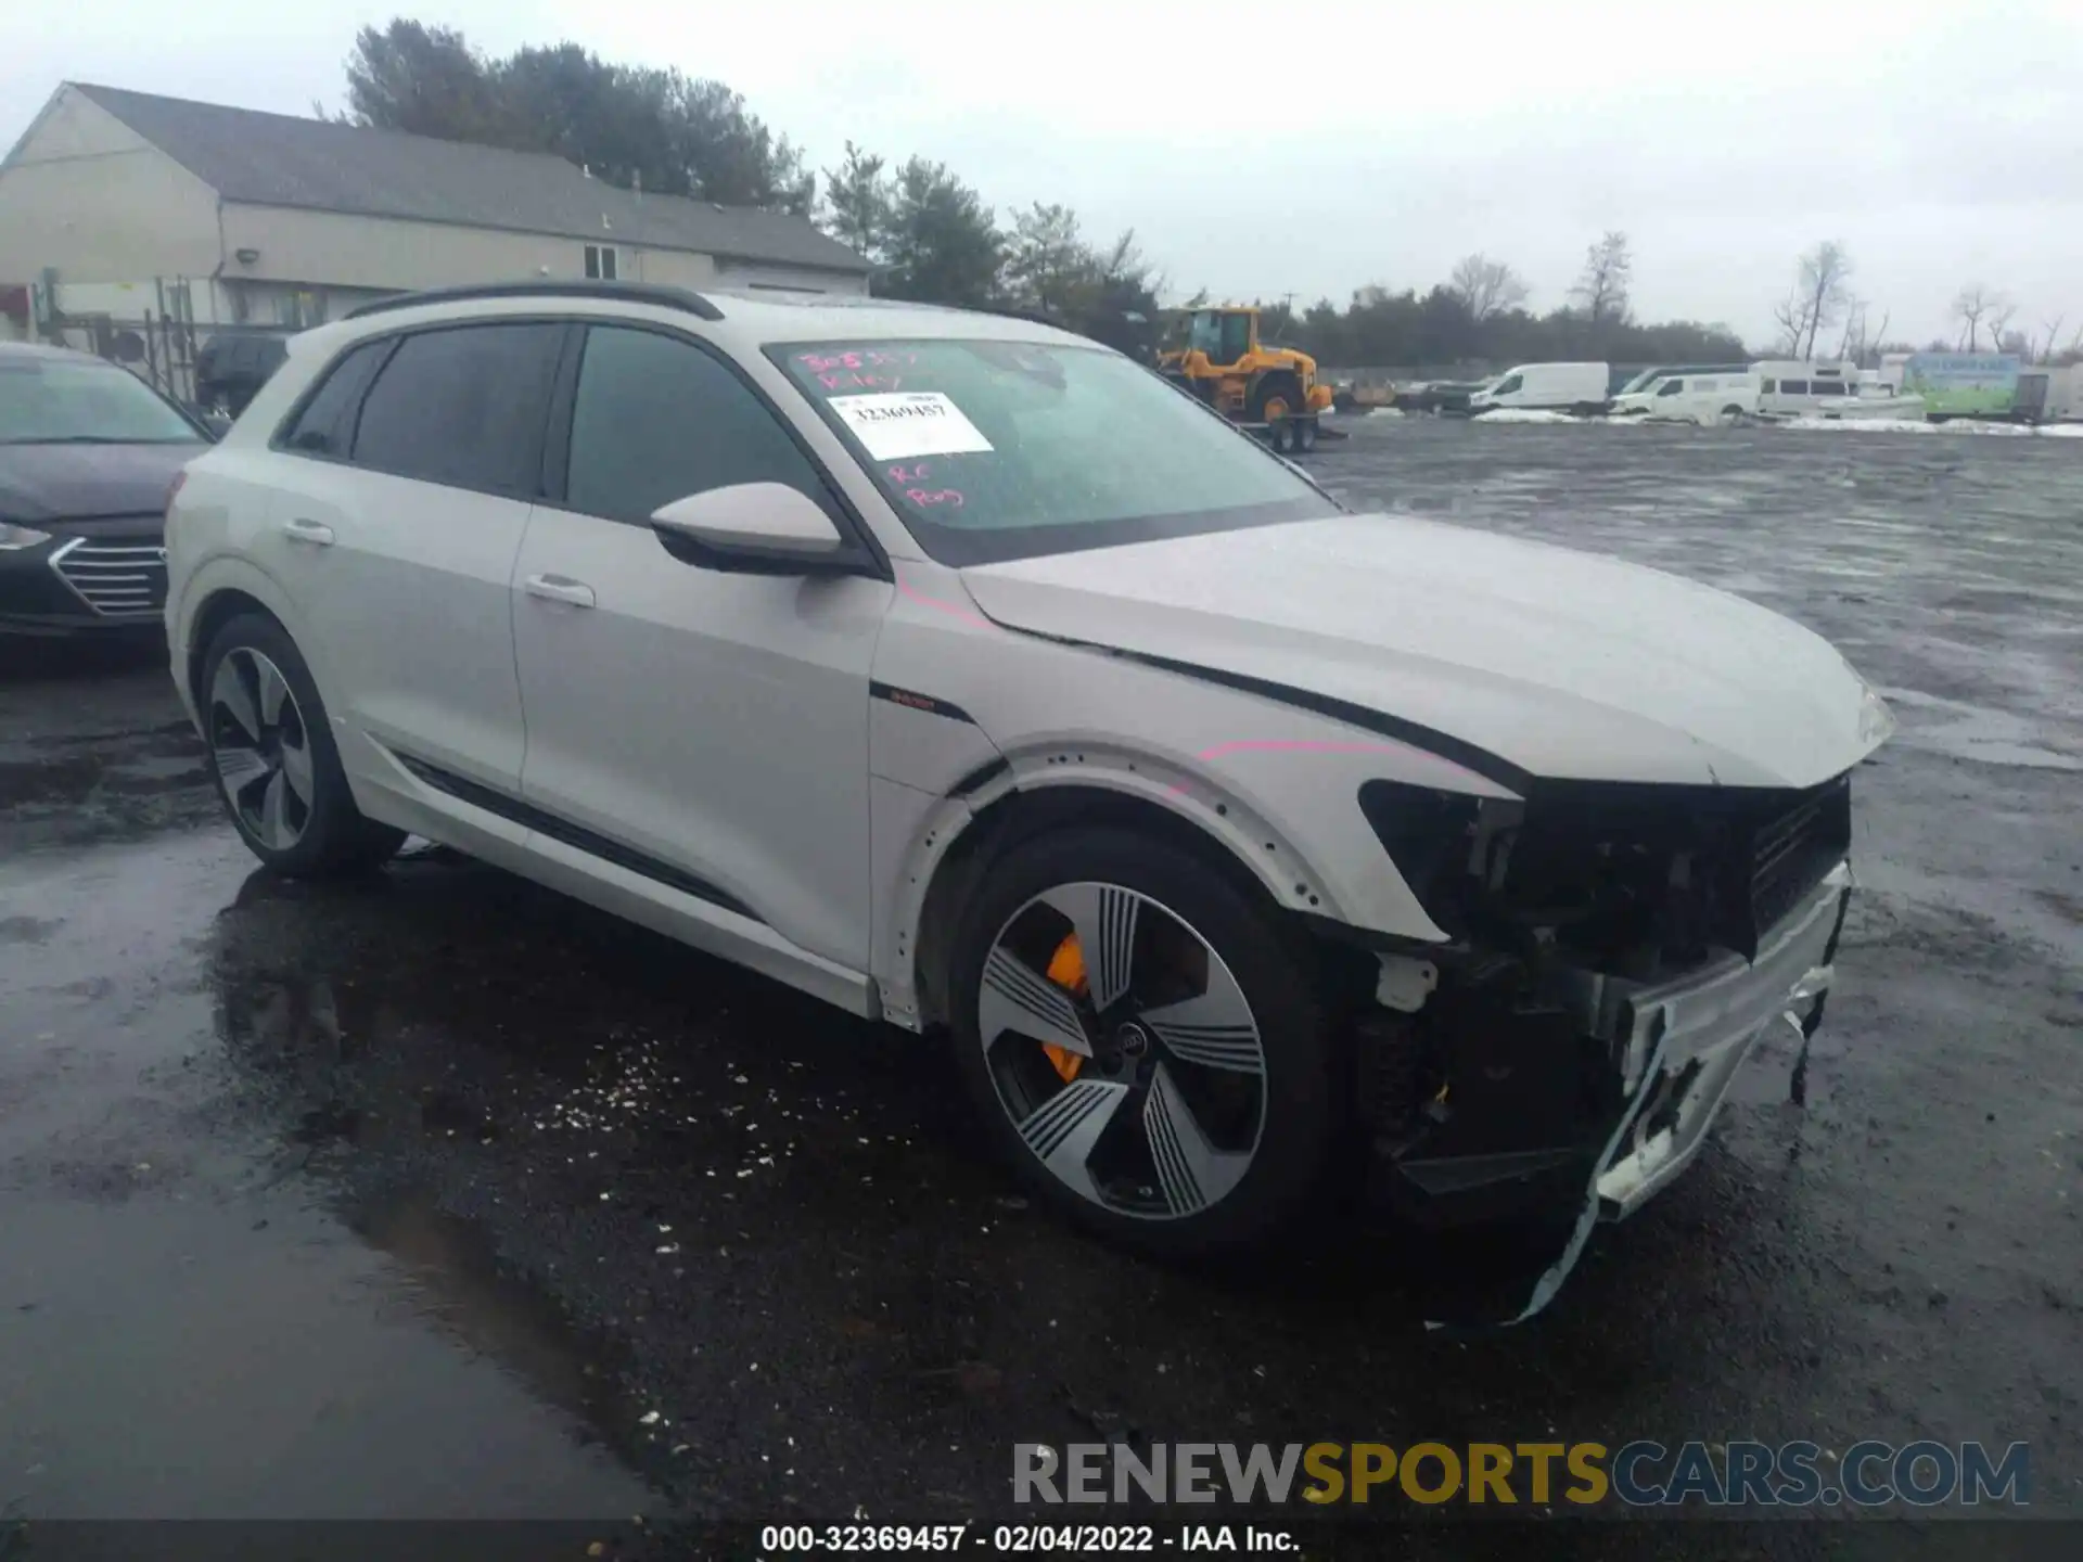
M 560 500 L 535 508 L 515 571 L 531 812 L 864 971 L 869 666 L 889 583 L 664 550 L 648 517 L 712 487 L 835 504 L 775 412 L 681 335 L 592 327 L 569 433 Z

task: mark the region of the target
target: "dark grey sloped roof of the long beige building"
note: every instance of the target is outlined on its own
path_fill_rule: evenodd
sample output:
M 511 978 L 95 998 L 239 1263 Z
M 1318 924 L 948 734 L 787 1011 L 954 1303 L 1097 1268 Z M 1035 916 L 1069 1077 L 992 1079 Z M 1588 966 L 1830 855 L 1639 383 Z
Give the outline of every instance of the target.
M 548 152 L 508 152 L 121 87 L 71 85 L 237 204 L 869 271 L 867 260 L 802 217 L 685 196 L 637 196 L 589 179 L 577 165 Z

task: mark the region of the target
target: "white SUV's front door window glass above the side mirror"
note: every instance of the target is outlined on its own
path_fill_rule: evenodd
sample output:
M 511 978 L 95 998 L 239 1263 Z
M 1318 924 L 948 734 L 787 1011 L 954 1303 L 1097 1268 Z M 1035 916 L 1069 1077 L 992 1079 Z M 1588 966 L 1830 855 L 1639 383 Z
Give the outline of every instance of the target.
M 567 473 L 564 502 L 610 521 L 733 483 L 783 483 L 831 508 L 808 456 L 737 375 L 685 342 L 612 325 L 585 337 Z

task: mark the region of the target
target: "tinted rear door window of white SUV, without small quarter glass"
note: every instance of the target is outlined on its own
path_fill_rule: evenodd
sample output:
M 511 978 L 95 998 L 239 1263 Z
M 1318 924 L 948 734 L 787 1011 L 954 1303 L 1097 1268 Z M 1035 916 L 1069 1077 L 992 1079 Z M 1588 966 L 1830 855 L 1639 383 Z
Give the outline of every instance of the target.
M 404 337 L 362 402 L 354 464 L 531 498 L 562 325 L 462 325 Z

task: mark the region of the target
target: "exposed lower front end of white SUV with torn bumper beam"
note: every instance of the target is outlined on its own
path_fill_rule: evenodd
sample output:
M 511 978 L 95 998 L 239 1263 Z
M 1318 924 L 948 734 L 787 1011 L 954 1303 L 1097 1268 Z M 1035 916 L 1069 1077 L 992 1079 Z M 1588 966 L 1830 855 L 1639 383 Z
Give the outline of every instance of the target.
M 1508 1283 L 1460 1291 L 1429 1327 L 1546 1308 L 1591 1227 L 1633 1214 L 1691 1162 L 1775 1025 L 1800 1050 L 1800 1098 L 1850 893 L 1839 864 L 1752 958 L 1721 950 L 1668 975 L 1469 950 L 1414 973 L 1383 956 L 1352 1037 L 1373 1202 L 1419 1229 L 1496 1227 L 1519 1243 Z

